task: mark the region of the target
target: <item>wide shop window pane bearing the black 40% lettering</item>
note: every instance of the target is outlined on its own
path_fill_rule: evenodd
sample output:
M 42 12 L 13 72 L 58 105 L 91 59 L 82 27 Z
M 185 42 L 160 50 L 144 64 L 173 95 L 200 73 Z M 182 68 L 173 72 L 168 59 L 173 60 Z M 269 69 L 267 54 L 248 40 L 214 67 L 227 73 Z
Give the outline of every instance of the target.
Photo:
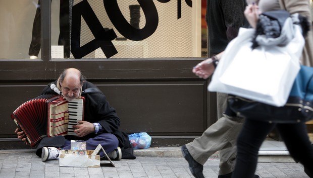
M 69 9 L 65 8 L 68 4 Z M 62 58 L 57 54 L 62 53 L 65 44 L 66 57 L 69 25 L 70 58 L 206 56 L 206 29 L 201 26 L 204 18 L 201 5 L 201 1 L 191 0 L 154 0 L 141 4 L 137 0 L 61 0 L 60 7 L 52 5 L 51 8 L 52 13 L 61 8 L 60 18 L 51 14 L 51 55 Z M 58 21 L 64 28 L 59 27 Z M 58 39 L 62 39 L 63 44 Z

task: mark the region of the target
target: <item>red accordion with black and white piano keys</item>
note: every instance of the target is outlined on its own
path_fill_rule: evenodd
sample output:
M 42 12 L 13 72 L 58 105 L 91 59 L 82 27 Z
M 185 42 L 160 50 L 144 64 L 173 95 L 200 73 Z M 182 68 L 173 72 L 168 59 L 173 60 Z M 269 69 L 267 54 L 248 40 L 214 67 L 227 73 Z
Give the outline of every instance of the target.
M 11 118 L 31 147 L 44 137 L 76 135 L 73 125 L 84 118 L 84 98 L 68 102 L 60 95 L 41 95 L 23 103 Z

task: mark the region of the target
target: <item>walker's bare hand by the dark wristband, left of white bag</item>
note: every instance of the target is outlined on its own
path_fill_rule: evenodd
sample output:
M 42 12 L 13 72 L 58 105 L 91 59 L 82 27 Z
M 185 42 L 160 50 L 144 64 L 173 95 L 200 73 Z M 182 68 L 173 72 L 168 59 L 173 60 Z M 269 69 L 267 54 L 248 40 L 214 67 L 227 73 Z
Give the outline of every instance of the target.
M 212 63 L 212 59 L 208 58 L 198 63 L 195 67 L 193 67 L 192 72 L 198 77 L 206 79 L 212 75 L 214 70 L 215 68 Z

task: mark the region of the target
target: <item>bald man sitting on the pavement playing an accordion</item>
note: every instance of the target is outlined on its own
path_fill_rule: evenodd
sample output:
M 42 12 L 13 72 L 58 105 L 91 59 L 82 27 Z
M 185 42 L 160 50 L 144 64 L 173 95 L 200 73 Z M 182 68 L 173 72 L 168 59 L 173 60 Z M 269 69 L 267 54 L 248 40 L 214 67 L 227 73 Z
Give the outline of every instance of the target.
M 67 101 L 83 96 L 84 121 L 73 126 L 76 136 L 56 136 L 43 138 L 36 148 L 36 154 L 42 161 L 58 159 L 60 149 L 71 149 L 71 140 L 86 141 L 87 148 L 94 150 L 98 144 L 109 153 L 111 159 L 135 159 L 129 137 L 119 130 L 120 118 L 109 105 L 106 96 L 92 83 L 85 80 L 84 75 L 76 68 L 63 71 L 58 80 L 49 83 L 41 95 L 59 94 Z M 27 144 L 25 135 L 18 128 L 18 138 Z M 100 152 L 100 157 L 105 154 Z

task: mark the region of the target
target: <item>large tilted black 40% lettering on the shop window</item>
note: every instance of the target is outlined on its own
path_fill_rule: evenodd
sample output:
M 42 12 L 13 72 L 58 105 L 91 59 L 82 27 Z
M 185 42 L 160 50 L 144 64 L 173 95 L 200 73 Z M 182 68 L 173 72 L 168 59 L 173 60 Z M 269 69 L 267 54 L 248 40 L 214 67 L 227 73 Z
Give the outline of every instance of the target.
M 137 0 L 145 16 L 145 26 L 142 29 L 134 28 L 124 18 L 119 9 L 117 0 L 103 0 L 103 6 L 106 9 L 108 17 L 114 27 L 125 38 L 133 41 L 140 41 L 151 36 L 156 28 L 158 28 L 159 16 L 153 0 Z M 171 0 L 158 0 L 161 3 L 168 3 Z M 178 19 L 181 16 L 180 5 L 178 1 Z M 186 4 L 192 7 L 192 0 L 185 0 Z M 81 17 L 85 20 L 94 39 L 80 46 Z M 71 52 L 75 58 L 82 58 L 92 51 L 101 48 L 107 58 L 118 53 L 114 47 L 112 40 L 117 38 L 113 29 L 106 31 L 87 0 L 73 6 L 72 9 L 72 34 L 71 34 Z

